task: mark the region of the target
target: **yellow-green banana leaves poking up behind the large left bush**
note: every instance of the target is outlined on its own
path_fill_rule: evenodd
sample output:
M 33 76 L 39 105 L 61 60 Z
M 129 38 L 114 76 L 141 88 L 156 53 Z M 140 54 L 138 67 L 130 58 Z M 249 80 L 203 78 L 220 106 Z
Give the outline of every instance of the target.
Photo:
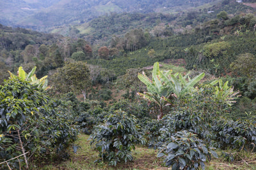
M 44 90 L 49 89 L 49 87 L 47 87 L 48 85 L 47 76 L 44 76 L 38 79 L 36 78 L 35 71 L 36 71 L 36 66 L 33 67 L 33 69 L 27 74 L 26 71 L 24 71 L 24 69 L 22 68 L 22 66 L 20 66 L 18 71 L 18 77 L 21 80 L 29 81 L 29 83 L 31 83 L 32 85 L 37 85 L 38 87 Z M 10 73 L 10 78 L 16 78 L 15 74 L 11 73 L 10 71 L 8 72 Z

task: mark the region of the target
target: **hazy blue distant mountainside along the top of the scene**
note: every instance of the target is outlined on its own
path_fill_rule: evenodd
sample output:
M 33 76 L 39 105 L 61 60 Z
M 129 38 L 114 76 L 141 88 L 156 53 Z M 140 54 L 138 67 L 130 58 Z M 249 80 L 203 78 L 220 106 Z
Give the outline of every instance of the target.
M 110 12 L 175 12 L 202 6 L 214 0 L 0 0 L 0 24 L 52 27 L 88 22 Z

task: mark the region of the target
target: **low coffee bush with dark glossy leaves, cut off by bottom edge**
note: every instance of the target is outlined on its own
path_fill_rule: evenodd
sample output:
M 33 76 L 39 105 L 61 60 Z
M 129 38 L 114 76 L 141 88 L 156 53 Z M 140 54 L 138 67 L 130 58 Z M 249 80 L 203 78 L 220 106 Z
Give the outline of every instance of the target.
M 205 169 L 206 160 L 211 160 L 211 155 L 218 157 L 214 148 L 207 147 L 196 134 L 180 131 L 173 134 L 165 145 L 159 147 L 157 157 L 165 156 L 166 166 L 172 169 Z

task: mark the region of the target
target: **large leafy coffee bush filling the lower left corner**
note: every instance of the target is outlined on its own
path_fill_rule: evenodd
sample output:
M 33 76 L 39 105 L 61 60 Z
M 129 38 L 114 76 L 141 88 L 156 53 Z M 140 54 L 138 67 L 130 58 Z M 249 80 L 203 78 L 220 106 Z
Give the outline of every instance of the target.
M 63 156 L 76 139 L 76 128 L 59 112 L 58 104 L 28 81 L 18 78 L 4 81 L 0 101 L 0 160 L 29 152 L 24 157 L 27 164 L 51 157 L 54 150 Z M 15 160 L 10 164 L 18 166 Z

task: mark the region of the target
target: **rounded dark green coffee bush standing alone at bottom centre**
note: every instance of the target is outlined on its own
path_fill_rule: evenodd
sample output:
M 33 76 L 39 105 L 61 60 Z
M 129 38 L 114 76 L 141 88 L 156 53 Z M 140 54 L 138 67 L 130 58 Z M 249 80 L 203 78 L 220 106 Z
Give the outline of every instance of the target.
M 91 145 L 99 151 L 99 157 L 110 166 L 131 161 L 134 144 L 143 141 L 138 134 L 136 119 L 122 111 L 109 115 L 104 125 L 95 127 L 90 138 Z

